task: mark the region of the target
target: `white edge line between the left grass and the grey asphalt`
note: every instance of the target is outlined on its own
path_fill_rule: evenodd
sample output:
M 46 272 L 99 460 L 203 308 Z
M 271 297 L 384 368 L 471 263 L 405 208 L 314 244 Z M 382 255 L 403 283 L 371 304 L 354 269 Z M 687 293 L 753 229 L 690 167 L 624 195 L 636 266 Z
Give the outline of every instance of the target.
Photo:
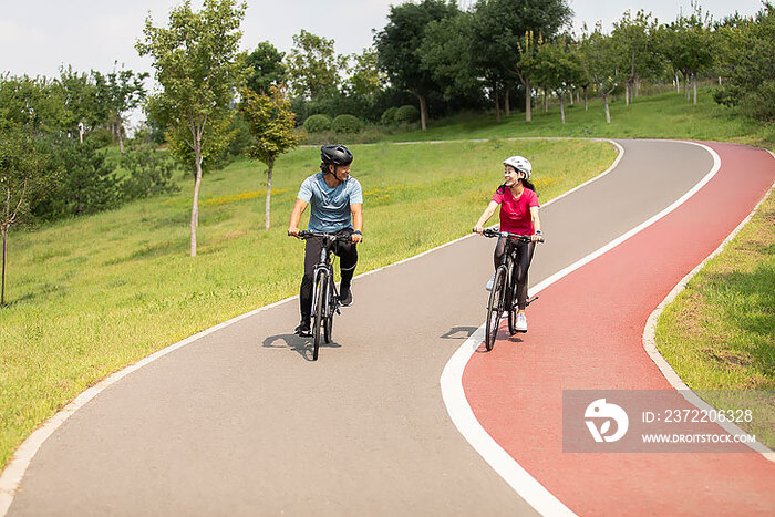
M 508 139 L 560 139 L 560 138 L 508 138 Z M 561 138 L 561 139 L 583 139 L 583 141 L 595 141 L 595 142 L 608 142 L 614 147 L 619 149 L 619 155 L 614 159 L 613 164 L 606 169 L 603 173 L 600 175 L 593 177 L 592 179 L 577 186 L 576 188 L 569 190 L 568 193 L 565 193 L 551 200 L 549 200 L 546 205 L 551 204 L 552 201 L 560 199 L 561 197 L 565 197 L 566 195 L 570 194 L 571 192 L 578 190 L 582 186 L 599 179 L 613 170 L 613 168 L 617 166 L 617 164 L 621 161 L 622 155 L 624 154 L 624 149 L 622 148 L 621 145 L 618 143 L 611 141 L 611 139 L 606 139 L 606 138 Z M 452 141 L 451 141 L 452 142 Z M 465 142 L 465 141 L 463 141 Z M 423 144 L 424 142 L 417 142 L 417 144 Z M 354 279 L 361 278 L 361 277 L 366 277 L 369 275 L 373 275 L 378 271 L 382 271 L 388 268 L 392 268 L 405 262 L 409 262 L 410 260 L 416 260 L 421 257 L 424 257 L 431 252 L 438 251 L 440 249 L 446 248 L 447 246 L 452 246 L 456 242 L 459 242 L 463 239 L 467 239 L 469 237 L 473 237 L 474 234 L 468 234 L 464 237 L 461 237 L 458 239 L 455 239 L 451 242 L 445 242 L 441 246 L 437 246 L 435 248 L 428 249 L 426 251 L 423 251 L 422 254 L 415 255 L 413 257 L 400 260 L 397 262 L 390 263 L 388 266 L 383 266 L 378 269 L 373 269 L 371 271 L 366 271 L 364 273 L 358 275 L 354 277 Z M 217 324 L 216 327 L 211 327 L 209 329 L 206 329 L 199 333 L 196 333 L 189 338 L 184 339 L 183 341 L 178 341 L 177 343 L 170 344 L 169 347 L 166 347 L 158 352 L 153 353 L 152 355 L 148 355 L 147 358 L 130 365 L 126 366 L 123 370 L 120 370 L 112 375 L 107 376 L 106 379 L 102 380 L 97 384 L 93 385 L 92 387 L 87 389 L 86 391 L 82 392 L 79 396 L 76 396 L 70 404 L 65 405 L 62 410 L 60 410 L 54 416 L 49 418 L 41 427 L 39 427 L 35 432 L 33 432 L 17 449 L 16 454 L 13 455 L 13 458 L 11 459 L 11 463 L 6 467 L 6 469 L 2 472 L 2 475 L 0 475 L 0 517 L 4 517 L 6 514 L 8 513 L 11 503 L 13 502 L 13 496 L 16 495 L 17 490 L 19 489 L 19 485 L 21 484 L 22 478 L 24 477 L 24 473 L 27 472 L 27 468 L 30 466 L 30 463 L 32 462 L 32 458 L 34 455 L 38 453 L 40 447 L 43 445 L 43 443 L 51 436 L 73 413 L 75 413 L 78 410 L 86 405 L 92 399 L 94 399 L 96 395 L 102 393 L 105 389 L 107 389 L 110 385 L 115 384 L 130 373 L 140 370 L 141 368 L 163 358 L 164 355 L 167 355 L 168 353 L 172 353 L 178 349 L 182 349 L 183 347 L 186 347 L 213 332 L 216 332 L 225 327 L 230 325 L 231 323 L 236 323 L 237 321 L 240 321 L 245 318 L 249 318 L 254 314 L 257 314 L 261 311 L 271 309 L 273 307 L 280 306 L 282 303 L 289 302 L 291 300 L 298 299 L 299 296 L 293 296 L 290 298 L 286 298 L 283 300 L 277 301 L 275 303 L 271 303 L 269 306 L 265 306 L 261 308 L 258 308 L 256 310 L 252 310 L 250 312 L 246 312 L 244 314 L 240 314 L 238 317 L 235 317 L 228 321 L 225 321 L 220 324 Z

